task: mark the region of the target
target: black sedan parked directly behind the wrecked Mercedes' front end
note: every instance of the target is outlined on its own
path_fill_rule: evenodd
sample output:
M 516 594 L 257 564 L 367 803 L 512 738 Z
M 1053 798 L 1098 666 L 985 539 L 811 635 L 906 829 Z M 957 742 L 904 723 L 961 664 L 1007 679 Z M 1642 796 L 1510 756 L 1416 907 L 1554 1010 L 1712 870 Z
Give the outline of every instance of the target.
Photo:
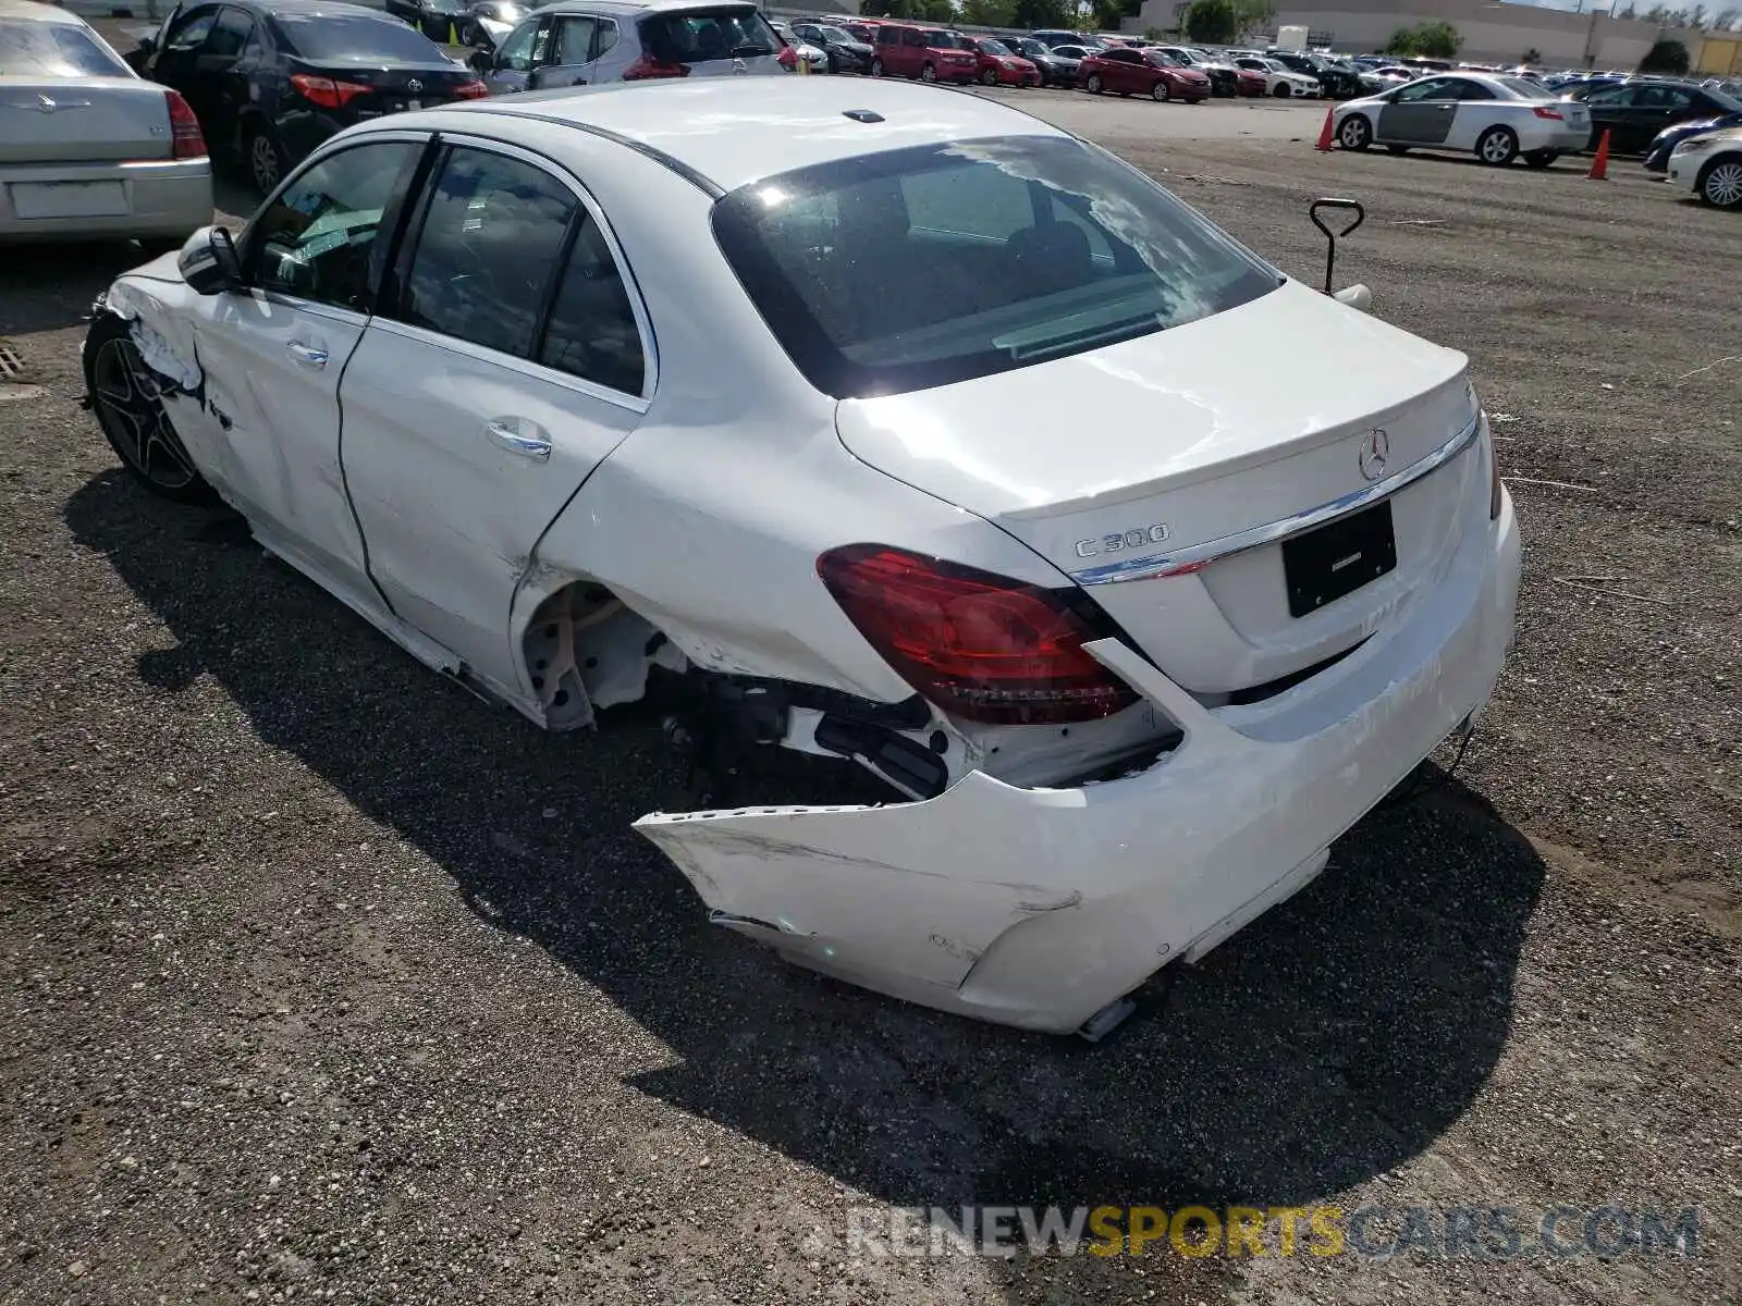
M 263 195 L 354 122 L 486 94 L 404 23 L 326 0 L 176 5 L 139 68 L 186 98 L 206 143 L 239 155 Z

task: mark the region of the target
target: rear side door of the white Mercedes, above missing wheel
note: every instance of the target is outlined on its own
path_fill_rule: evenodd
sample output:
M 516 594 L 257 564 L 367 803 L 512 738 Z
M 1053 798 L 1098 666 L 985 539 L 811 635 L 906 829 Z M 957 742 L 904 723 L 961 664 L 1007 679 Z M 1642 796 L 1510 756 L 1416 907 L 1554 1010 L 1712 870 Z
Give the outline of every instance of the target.
M 430 176 L 401 291 L 345 373 L 345 479 L 394 611 L 512 688 L 516 587 L 646 413 L 652 336 L 598 209 L 550 164 L 444 132 Z

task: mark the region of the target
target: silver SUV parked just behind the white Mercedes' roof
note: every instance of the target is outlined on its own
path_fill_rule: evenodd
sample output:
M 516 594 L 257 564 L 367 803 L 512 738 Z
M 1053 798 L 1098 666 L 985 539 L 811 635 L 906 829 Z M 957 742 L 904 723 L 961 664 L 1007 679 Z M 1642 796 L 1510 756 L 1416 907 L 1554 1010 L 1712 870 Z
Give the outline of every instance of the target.
M 719 0 L 573 0 L 545 5 L 495 50 L 472 56 L 491 94 L 658 77 L 786 73 L 793 47 L 751 5 Z

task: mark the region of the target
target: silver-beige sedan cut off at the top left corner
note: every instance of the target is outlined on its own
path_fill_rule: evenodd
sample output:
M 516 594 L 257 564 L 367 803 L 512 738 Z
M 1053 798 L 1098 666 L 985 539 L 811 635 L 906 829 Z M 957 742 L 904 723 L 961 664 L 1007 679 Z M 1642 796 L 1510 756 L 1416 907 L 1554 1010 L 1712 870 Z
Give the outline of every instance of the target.
M 213 219 L 199 118 L 84 19 L 0 0 L 0 242 L 138 237 L 174 249 Z

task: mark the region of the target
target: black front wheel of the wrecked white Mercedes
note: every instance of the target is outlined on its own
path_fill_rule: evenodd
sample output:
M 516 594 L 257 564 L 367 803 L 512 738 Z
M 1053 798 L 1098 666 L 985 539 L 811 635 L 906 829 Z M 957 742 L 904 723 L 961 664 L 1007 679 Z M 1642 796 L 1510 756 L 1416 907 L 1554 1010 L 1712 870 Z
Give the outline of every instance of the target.
M 85 394 L 103 437 L 122 467 L 153 495 L 176 503 L 211 503 L 218 496 L 193 468 L 164 413 L 164 381 L 145 366 L 132 329 L 103 313 L 85 336 Z

